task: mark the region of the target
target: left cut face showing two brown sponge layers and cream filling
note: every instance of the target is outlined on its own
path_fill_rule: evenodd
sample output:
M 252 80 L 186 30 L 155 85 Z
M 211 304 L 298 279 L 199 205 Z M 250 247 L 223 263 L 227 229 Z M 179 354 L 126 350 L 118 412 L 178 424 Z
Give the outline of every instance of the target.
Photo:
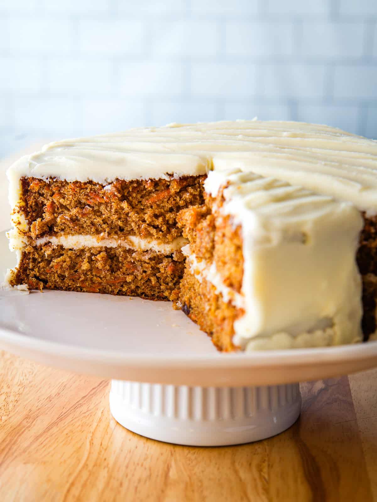
M 31 288 L 177 298 L 187 242 L 178 212 L 203 201 L 203 177 L 93 181 L 21 178 L 22 255 Z M 17 221 L 23 227 L 17 227 Z M 25 222 L 28 222 L 25 224 Z

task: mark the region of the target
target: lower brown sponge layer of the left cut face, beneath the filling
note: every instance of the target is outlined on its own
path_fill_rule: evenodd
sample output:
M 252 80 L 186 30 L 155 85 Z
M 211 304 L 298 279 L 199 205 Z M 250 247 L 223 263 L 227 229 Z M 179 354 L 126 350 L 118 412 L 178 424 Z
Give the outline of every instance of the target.
M 162 255 L 126 247 L 27 246 L 11 285 L 176 300 L 183 276 L 180 251 Z

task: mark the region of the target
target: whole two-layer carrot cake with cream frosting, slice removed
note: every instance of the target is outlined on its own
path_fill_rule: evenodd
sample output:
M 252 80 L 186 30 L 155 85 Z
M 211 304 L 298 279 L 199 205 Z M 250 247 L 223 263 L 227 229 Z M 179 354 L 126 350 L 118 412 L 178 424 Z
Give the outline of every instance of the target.
M 52 143 L 8 177 L 13 286 L 172 300 L 222 351 L 376 331 L 377 142 L 170 124 Z

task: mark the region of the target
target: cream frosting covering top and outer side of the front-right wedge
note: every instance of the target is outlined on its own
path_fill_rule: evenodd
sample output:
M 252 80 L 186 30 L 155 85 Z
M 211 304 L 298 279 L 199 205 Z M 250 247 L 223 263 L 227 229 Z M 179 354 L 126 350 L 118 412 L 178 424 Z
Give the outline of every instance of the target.
M 221 212 L 241 226 L 243 240 L 245 314 L 234 322 L 234 344 L 245 348 L 255 337 L 274 337 L 300 345 L 310 341 L 303 337 L 307 332 L 319 338 L 319 323 L 331 326 L 331 333 L 320 330 L 323 345 L 360 341 L 359 211 L 351 203 L 240 170 L 209 173 L 206 191 L 215 196 L 222 186 Z M 219 289 L 210 274 L 206 278 Z M 298 336 L 301 342 L 295 342 Z

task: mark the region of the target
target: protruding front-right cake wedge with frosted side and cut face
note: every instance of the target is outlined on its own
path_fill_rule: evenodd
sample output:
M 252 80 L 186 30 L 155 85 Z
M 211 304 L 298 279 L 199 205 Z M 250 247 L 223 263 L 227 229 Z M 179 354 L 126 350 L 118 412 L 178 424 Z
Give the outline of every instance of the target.
M 179 304 L 221 350 L 361 340 L 352 204 L 240 170 L 210 172 L 181 211 L 190 240 Z

